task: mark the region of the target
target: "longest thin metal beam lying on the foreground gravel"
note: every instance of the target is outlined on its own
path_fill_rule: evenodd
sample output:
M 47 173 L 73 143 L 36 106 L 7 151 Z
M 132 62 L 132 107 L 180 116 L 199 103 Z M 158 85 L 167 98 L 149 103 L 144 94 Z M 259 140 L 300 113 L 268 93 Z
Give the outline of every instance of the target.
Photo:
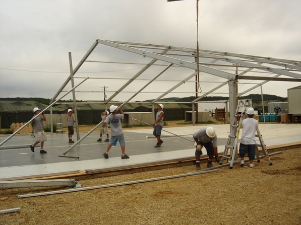
M 208 170 L 208 171 L 199 171 L 195 173 L 186 173 L 186 174 L 178 174 L 178 175 L 172 175 L 172 176 L 166 176 L 166 177 L 158 177 L 158 178 L 151 178 L 151 179 L 145 179 L 145 180 L 137 180 L 137 181 L 129 181 L 129 182 L 122 182 L 122 183 L 115 183 L 115 184 L 105 184 L 105 185 L 99 185 L 99 186 L 93 186 L 93 187 L 83 187 L 83 188 L 76 188 L 76 189 L 68 189 L 68 190 L 61 190 L 61 191 L 49 191 L 49 192 L 42 192 L 42 193 L 35 193 L 35 194 L 24 194 L 24 195 L 18 195 L 18 198 L 28 198 L 28 197 L 36 197 L 36 196 L 43 196 L 43 195 L 51 195 L 51 194 L 63 194 L 63 193 L 70 193 L 70 192 L 76 192 L 76 191 L 87 191 L 87 190 L 94 190 L 94 189 L 100 189 L 100 188 L 108 188 L 108 187 L 117 187 L 117 186 L 123 186 L 123 185 L 130 185 L 130 184 L 139 184 L 139 183 L 146 183 L 151 181 L 159 181 L 159 180 L 167 180 L 167 179 L 173 179 L 173 178 L 179 178 L 179 177 L 187 177 L 197 174 L 206 174 L 211 172 L 217 172 L 218 170 Z

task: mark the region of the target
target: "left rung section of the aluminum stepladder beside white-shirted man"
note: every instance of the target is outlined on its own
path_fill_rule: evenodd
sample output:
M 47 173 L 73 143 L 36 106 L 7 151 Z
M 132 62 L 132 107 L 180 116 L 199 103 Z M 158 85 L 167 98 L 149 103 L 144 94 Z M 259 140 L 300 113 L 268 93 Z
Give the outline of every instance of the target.
M 236 108 L 236 112 L 234 114 L 233 124 L 230 126 L 230 135 L 228 136 L 227 143 L 225 145 L 225 149 L 219 165 L 223 164 L 223 161 L 226 159 L 227 163 L 229 163 L 229 168 L 233 168 L 234 161 L 237 160 L 237 144 L 238 144 L 238 136 L 240 126 L 242 125 L 242 118 L 246 110 L 251 107 L 249 100 L 239 100 Z M 230 154 L 228 154 L 230 152 Z

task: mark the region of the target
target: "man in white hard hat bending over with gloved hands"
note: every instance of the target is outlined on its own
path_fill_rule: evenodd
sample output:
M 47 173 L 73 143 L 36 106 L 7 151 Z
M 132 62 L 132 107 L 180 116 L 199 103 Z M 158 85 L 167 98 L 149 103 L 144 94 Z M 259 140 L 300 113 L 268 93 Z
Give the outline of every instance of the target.
M 201 169 L 200 157 L 201 155 L 203 155 L 202 153 L 203 146 L 205 146 L 208 155 L 207 168 L 212 167 L 212 159 L 214 155 L 215 155 L 216 162 L 219 163 L 218 153 L 217 153 L 217 136 L 214 127 L 209 126 L 207 128 L 202 128 L 198 130 L 193 134 L 193 138 L 197 144 L 196 152 L 195 152 L 197 170 Z

